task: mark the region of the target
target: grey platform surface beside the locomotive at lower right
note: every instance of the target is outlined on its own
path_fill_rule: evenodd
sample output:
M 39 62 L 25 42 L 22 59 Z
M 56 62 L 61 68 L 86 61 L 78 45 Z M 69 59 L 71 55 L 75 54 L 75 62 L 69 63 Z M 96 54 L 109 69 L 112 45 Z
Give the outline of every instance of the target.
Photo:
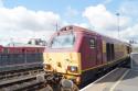
M 138 91 L 138 70 L 117 68 L 81 91 Z

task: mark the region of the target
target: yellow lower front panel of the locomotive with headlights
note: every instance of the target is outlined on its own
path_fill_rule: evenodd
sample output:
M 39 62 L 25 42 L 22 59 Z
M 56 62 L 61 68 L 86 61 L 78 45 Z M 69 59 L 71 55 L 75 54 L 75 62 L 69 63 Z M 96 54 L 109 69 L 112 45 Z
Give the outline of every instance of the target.
M 44 70 L 61 73 L 76 73 L 79 69 L 78 53 L 45 53 Z

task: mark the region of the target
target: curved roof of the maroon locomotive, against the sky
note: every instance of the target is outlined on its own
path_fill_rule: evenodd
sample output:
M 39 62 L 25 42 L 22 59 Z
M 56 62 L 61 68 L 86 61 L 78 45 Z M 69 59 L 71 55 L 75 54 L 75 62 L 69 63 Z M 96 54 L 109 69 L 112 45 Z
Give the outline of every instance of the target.
M 123 43 L 123 44 L 129 45 L 129 44 L 126 43 L 126 42 L 123 42 L 123 41 L 119 41 L 119 39 L 117 39 L 117 38 L 109 37 L 109 36 L 103 35 L 103 34 L 99 34 L 99 33 L 97 33 L 97 32 L 95 32 L 95 31 L 92 31 L 92 30 L 88 30 L 88 29 L 85 29 L 85 27 L 76 26 L 76 25 L 67 25 L 67 26 L 64 26 L 64 27 L 62 27 L 62 29 L 59 31 L 59 33 L 60 33 L 60 32 L 65 32 L 65 31 L 75 31 L 75 32 L 78 31 L 78 32 L 91 33 L 91 34 L 93 34 L 93 35 L 100 36 L 102 38 L 105 38 L 105 39 L 112 39 L 112 41 L 114 41 L 114 42 L 116 42 L 116 43 Z

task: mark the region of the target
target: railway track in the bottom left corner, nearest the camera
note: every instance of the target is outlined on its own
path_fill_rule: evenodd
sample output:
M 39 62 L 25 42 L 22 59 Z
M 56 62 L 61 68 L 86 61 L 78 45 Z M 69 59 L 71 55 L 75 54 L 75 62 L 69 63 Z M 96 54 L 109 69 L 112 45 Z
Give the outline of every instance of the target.
M 43 82 L 36 80 L 36 76 L 22 76 L 0 82 L 0 91 L 24 91 L 41 88 Z

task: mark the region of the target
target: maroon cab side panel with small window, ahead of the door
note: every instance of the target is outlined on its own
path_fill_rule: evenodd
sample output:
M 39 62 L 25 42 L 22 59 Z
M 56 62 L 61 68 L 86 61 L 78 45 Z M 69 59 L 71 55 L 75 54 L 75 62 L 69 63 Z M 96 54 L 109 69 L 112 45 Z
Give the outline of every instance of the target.
M 86 34 L 81 44 L 82 68 L 89 69 L 96 64 L 96 37 Z

